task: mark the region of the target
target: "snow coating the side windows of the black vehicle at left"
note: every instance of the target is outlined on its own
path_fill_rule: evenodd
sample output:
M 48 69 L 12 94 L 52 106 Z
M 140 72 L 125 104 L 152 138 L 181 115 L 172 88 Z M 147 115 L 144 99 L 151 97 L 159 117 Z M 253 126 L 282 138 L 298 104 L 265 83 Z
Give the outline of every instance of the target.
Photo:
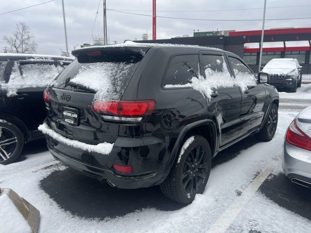
M 64 69 L 61 66 L 55 67 L 53 64 L 23 64 L 15 61 L 8 83 L 2 81 L 1 88 L 7 90 L 7 96 L 17 94 L 19 88 L 27 87 L 46 87 Z

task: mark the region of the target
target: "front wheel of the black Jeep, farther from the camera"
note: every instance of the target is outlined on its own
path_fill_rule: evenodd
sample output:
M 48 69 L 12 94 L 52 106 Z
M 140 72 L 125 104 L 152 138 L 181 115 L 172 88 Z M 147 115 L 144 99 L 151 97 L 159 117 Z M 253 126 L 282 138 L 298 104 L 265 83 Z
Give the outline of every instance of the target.
M 264 142 L 271 141 L 276 133 L 277 127 L 277 106 L 272 104 L 268 113 L 266 122 L 264 123 L 262 129 L 256 133 L 256 137 Z

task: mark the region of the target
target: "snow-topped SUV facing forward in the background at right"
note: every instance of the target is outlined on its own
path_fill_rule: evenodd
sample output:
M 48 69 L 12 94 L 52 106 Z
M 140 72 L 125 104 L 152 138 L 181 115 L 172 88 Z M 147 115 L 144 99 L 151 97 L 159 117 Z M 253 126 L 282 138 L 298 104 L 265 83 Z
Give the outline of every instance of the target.
M 270 75 L 269 84 L 276 87 L 296 92 L 297 87 L 301 86 L 302 66 L 295 58 L 274 58 L 263 67 L 262 72 Z

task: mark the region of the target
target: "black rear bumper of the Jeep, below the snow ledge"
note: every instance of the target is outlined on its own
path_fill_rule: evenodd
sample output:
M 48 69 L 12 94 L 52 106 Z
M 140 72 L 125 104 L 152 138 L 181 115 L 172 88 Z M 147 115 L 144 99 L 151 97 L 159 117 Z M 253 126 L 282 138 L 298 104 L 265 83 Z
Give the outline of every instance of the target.
M 140 148 L 114 146 L 112 151 L 105 155 L 69 147 L 47 135 L 46 139 L 48 149 L 56 160 L 101 182 L 110 181 L 118 188 L 150 187 L 164 180 L 165 176 L 159 165 L 152 156 L 142 158 L 139 154 Z M 142 162 L 141 159 L 145 161 Z M 113 168 L 113 164 L 132 166 L 133 172 L 118 172 Z

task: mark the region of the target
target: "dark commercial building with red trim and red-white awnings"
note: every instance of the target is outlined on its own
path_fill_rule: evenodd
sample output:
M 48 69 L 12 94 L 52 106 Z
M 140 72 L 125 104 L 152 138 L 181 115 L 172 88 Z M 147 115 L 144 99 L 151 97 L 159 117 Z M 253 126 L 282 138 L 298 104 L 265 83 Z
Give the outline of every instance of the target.
M 161 40 L 142 40 L 141 43 L 172 43 L 200 45 L 234 52 L 255 71 L 259 69 L 261 30 L 193 33 L 193 37 Z M 212 34 L 212 35 L 210 35 Z M 215 35 L 217 34 L 217 35 Z M 273 58 L 296 58 L 303 66 L 304 74 L 311 74 L 311 28 L 281 28 L 264 31 L 261 64 Z

